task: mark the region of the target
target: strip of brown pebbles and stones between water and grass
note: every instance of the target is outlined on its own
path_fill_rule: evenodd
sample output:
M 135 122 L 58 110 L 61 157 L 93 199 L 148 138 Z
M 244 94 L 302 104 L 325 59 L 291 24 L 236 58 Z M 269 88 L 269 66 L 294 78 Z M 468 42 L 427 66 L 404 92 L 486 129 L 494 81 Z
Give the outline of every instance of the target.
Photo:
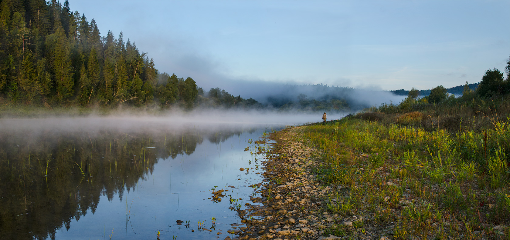
M 370 216 L 344 217 L 328 209 L 331 202 L 341 201 L 338 192 L 346 186 L 321 182 L 317 170 L 324 167 L 323 152 L 303 140 L 306 127 L 269 137 L 276 143 L 266 152 L 260 191 L 264 198 L 251 198 L 253 204 L 246 203 L 247 209 L 239 212 L 247 227 L 237 239 L 337 239 L 347 233 L 356 239 L 385 239 L 368 224 Z

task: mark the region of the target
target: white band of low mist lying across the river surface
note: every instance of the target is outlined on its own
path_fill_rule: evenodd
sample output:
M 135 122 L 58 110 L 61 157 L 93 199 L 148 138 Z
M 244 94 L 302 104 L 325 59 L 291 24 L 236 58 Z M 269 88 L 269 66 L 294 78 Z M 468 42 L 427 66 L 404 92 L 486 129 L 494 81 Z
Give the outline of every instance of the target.
M 348 113 L 329 115 L 328 120 L 340 119 Z M 68 131 L 115 130 L 122 132 L 170 131 L 189 129 L 221 131 L 222 129 L 249 129 L 254 127 L 283 128 L 319 122 L 322 113 L 279 113 L 272 111 L 194 110 L 185 112 L 172 110 L 158 116 L 142 112 L 125 111 L 108 116 L 48 117 L 25 119 L 0 119 L 0 136 L 17 131 L 59 134 Z

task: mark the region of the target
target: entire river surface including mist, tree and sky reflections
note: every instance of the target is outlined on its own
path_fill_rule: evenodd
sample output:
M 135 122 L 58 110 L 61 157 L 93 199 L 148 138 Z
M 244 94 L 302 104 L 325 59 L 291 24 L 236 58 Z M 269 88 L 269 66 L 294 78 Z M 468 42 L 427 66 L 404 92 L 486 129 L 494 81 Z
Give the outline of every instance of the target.
M 257 195 L 249 185 L 262 179 L 263 156 L 255 152 L 268 145 L 252 142 L 321 116 L 0 119 L 1 238 L 233 236 L 227 230 L 242 223 L 229 207 L 244 208 Z M 227 191 L 214 199 L 219 190 Z

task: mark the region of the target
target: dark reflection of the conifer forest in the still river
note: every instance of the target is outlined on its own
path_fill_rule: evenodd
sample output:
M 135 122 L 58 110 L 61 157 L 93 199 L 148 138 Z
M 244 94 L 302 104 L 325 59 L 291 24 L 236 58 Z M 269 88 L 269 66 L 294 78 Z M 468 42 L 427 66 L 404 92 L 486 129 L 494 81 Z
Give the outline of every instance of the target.
M 193 153 L 202 136 L 219 143 L 241 132 L 3 131 L 1 238 L 55 239 L 72 220 L 93 214 L 100 196 L 122 200 L 124 190 L 134 190 L 158 159 Z

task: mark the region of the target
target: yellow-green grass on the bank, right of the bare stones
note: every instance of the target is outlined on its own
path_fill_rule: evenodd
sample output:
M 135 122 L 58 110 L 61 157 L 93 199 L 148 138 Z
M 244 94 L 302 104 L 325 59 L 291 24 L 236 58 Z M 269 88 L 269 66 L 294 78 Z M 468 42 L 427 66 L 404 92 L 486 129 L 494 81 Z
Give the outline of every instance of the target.
M 390 118 L 410 123 L 419 115 Z M 397 239 L 471 238 L 474 230 L 484 230 L 481 224 L 510 224 L 508 119 L 486 117 L 490 127 L 452 131 L 393 123 L 385 114 L 356 117 L 303 131 L 323 152 L 316 170 L 320 179 L 346 186 L 335 197 L 338 201 L 330 196 L 328 210 L 342 216 L 368 214 L 381 226 L 394 223 Z

